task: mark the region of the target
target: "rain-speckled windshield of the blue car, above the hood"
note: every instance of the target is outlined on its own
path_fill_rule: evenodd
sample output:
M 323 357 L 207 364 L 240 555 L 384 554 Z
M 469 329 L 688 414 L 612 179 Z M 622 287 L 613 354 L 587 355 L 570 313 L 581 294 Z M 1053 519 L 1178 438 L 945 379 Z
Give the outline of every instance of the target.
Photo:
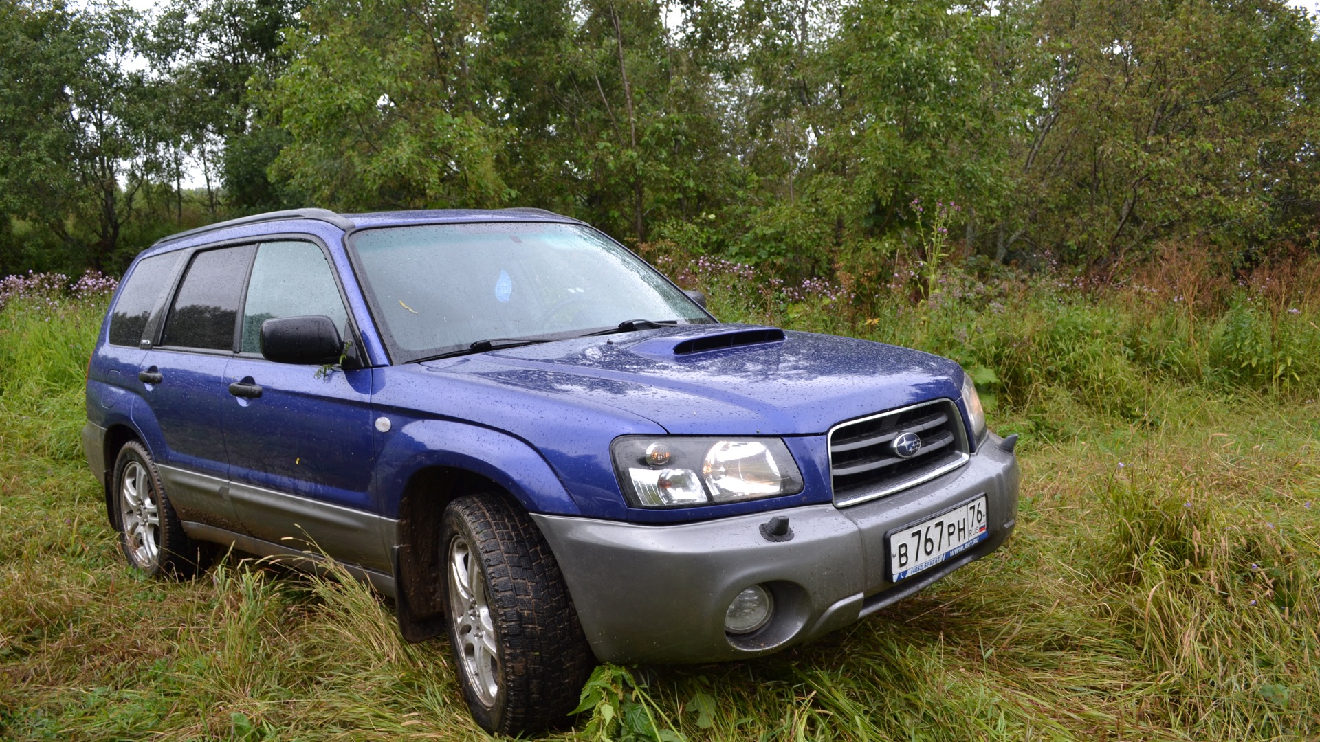
M 389 227 L 358 232 L 351 246 L 396 363 L 628 320 L 710 322 L 644 261 L 578 224 Z

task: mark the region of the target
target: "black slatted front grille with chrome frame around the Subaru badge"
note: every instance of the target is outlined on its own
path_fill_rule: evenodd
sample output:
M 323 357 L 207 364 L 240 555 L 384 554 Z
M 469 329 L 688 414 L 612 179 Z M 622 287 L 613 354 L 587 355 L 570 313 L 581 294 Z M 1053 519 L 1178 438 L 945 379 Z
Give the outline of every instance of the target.
M 894 448 L 894 440 L 904 433 L 921 438 L 921 448 L 911 458 Z M 946 399 L 840 422 L 829 432 L 834 504 L 855 504 L 906 490 L 962 466 L 968 458 L 962 416 Z

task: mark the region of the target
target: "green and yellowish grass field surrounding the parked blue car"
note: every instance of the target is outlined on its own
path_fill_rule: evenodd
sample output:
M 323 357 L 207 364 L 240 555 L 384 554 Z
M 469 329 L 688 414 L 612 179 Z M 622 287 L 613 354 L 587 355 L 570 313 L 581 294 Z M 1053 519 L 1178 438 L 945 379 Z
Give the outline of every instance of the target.
M 725 318 L 972 370 L 1022 434 L 1006 547 L 776 656 L 606 668 L 552 738 L 1320 738 L 1320 296 L 950 276 L 866 310 L 702 285 Z M 125 568 L 78 444 L 102 312 L 0 310 L 0 738 L 486 738 L 445 643 L 404 643 L 366 588 Z

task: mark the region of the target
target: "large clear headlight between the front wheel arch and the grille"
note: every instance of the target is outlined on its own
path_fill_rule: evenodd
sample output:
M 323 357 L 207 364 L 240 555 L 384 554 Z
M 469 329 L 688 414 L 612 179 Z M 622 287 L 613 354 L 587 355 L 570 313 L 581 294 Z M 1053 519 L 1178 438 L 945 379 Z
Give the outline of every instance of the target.
M 636 507 L 718 504 L 803 491 L 803 474 L 780 438 L 623 436 L 614 470 Z

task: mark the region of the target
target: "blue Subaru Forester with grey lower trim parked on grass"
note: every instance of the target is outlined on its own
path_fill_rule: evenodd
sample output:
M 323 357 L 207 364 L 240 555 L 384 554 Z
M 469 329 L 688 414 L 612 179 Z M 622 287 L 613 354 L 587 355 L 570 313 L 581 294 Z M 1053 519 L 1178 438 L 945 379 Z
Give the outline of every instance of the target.
M 726 325 L 535 209 L 263 214 L 128 269 L 83 445 L 129 564 L 327 555 L 447 632 L 477 721 L 597 661 L 809 642 L 999 547 L 1015 437 L 953 362 Z

